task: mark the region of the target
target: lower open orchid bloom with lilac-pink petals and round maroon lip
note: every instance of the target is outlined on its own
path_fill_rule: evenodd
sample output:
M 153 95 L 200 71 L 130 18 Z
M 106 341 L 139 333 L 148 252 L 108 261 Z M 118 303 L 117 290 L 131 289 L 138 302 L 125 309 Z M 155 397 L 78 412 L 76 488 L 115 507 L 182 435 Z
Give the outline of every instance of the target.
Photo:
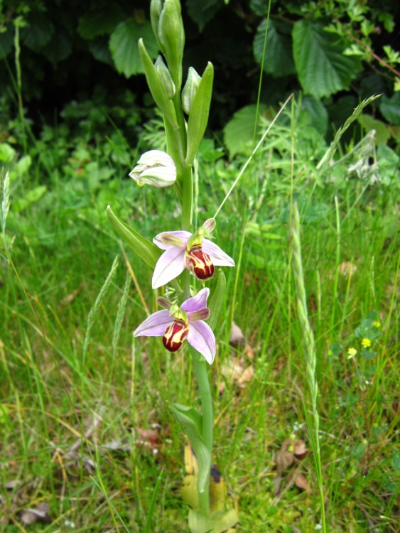
M 210 309 L 207 308 L 209 294 L 210 289 L 202 289 L 180 307 L 165 298 L 158 298 L 159 305 L 166 309 L 146 318 L 136 328 L 134 336 L 162 337 L 164 347 L 170 352 L 177 352 L 183 341 L 188 340 L 211 365 L 215 358 L 215 336 L 204 322 L 210 316 Z

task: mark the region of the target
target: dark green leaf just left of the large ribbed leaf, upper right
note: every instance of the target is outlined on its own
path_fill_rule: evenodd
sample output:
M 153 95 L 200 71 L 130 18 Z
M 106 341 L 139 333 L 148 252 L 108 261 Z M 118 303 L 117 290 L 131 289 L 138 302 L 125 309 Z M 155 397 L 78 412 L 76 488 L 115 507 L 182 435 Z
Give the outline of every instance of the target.
M 254 58 L 261 64 L 264 49 L 266 20 L 257 28 L 253 42 Z M 264 56 L 264 71 L 274 77 L 287 76 L 296 72 L 293 61 L 291 37 L 278 33 L 273 21 L 269 21 Z

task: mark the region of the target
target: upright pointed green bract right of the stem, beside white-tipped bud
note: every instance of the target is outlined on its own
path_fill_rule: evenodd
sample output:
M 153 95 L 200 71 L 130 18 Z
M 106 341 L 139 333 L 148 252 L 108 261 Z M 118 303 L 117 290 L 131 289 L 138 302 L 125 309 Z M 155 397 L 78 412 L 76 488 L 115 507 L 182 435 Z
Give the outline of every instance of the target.
M 202 73 L 198 90 L 193 98 L 188 119 L 188 151 L 186 154 L 186 163 L 188 165 L 193 163 L 193 159 L 195 158 L 207 127 L 213 80 L 214 67 L 212 63 L 208 62 L 205 71 Z

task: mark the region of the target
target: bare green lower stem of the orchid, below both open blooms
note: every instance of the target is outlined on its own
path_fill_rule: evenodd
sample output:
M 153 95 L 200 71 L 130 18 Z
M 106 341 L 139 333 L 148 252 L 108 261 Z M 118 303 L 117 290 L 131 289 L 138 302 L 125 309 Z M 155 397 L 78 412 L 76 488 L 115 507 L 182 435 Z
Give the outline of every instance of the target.
M 193 366 L 195 367 L 196 377 L 200 390 L 201 409 L 202 409 L 202 438 L 207 448 L 212 454 L 212 396 L 210 381 L 207 374 L 207 364 L 198 351 L 190 348 L 192 354 Z M 210 516 L 210 471 L 207 473 L 207 483 L 205 490 L 199 493 L 200 513 L 206 517 Z

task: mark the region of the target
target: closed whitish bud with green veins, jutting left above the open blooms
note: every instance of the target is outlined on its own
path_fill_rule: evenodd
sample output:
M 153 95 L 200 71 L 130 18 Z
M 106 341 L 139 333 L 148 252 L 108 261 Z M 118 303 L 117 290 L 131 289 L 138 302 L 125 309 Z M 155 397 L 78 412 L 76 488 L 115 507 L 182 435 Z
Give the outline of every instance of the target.
M 143 154 L 138 165 L 129 173 L 138 185 L 168 187 L 176 181 L 176 167 L 173 158 L 161 150 L 150 150 Z

